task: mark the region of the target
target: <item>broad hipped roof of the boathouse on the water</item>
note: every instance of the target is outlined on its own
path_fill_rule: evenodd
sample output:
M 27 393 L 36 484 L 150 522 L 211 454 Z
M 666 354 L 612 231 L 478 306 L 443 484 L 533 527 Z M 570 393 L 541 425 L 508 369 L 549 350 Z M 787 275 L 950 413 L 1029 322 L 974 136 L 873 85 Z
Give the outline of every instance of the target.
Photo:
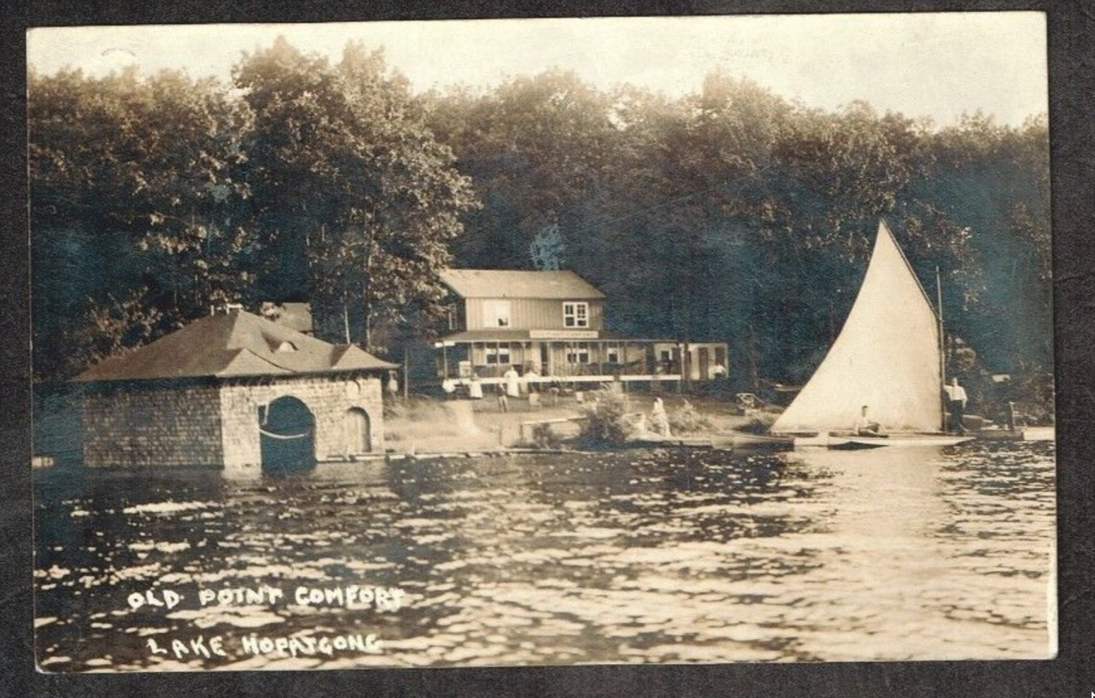
M 351 345 L 332 345 L 258 315 L 234 311 L 194 321 L 77 381 L 295 375 L 397 368 Z

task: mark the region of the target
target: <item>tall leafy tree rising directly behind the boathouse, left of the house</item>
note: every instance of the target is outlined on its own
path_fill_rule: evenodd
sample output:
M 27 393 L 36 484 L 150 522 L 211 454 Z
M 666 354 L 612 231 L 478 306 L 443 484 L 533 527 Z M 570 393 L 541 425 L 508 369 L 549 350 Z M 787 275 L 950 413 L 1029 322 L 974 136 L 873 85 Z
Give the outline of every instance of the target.
M 309 298 L 321 334 L 370 348 L 378 328 L 426 326 L 460 213 L 477 201 L 406 81 L 360 44 L 331 65 L 284 38 L 233 74 L 255 114 L 254 216 L 280 260 L 265 291 Z

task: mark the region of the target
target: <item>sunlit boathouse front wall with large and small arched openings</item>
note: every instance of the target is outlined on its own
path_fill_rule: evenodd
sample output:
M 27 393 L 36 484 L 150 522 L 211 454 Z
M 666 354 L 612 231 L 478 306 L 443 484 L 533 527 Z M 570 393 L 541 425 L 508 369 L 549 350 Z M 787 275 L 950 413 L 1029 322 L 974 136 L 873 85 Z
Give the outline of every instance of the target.
M 372 451 L 383 451 L 384 421 L 381 383 L 376 376 L 334 375 L 266 379 L 224 384 L 220 388 L 224 468 L 258 468 L 262 451 L 260 407 L 279 397 L 301 400 L 315 418 L 315 456 L 320 461 L 359 453 L 348 429 L 347 411 L 357 408 L 369 418 Z

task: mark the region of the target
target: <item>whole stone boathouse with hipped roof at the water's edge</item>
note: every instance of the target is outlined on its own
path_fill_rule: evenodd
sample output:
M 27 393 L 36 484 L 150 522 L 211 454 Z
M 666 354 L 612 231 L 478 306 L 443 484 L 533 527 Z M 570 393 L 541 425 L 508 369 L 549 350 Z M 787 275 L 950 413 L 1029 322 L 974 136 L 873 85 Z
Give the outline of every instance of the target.
M 90 467 L 309 467 L 383 451 L 397 368 L 233 310 L 77 376 Z

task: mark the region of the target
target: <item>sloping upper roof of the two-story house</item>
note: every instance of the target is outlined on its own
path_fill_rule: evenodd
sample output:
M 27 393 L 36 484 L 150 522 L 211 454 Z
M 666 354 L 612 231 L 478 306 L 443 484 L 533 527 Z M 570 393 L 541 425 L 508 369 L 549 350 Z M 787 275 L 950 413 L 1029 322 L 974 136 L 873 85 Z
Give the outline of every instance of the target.
M 441 281 L 463 298 L 599 299 L 604 294 L 573 271 L 446 269 Z

